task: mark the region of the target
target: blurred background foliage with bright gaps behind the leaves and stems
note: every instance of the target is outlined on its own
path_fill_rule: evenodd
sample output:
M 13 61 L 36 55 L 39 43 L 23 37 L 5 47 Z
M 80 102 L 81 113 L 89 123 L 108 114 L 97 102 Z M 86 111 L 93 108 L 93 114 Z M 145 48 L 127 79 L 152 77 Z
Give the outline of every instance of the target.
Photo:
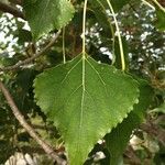
M 3 0 L 3 2 L 22 10 L 20 1 L 18 1 L 19 4 L 12 0 Z M 31 64 L 16 70 L 0 73 L 0 78 L 11 91 L 25 119 L 59 153 L 64 152 L 63 140 L 56 128 L 47 121 L 35 105 L 32 85 L 35 76 L 43 69 L 63 63 L 63 40 L 65 40 L 67 59 L 74 58 L 81 52 L 84 1 L 73 0 L 72 2 L 76 13 L 73 21 L 65 28 L 65 38 L 61 35 L 50 51 Z M 165 7 L 163 0 L 160 0 L 160 3 Z M 165 165 L 165 13 L 160 9 L 155 11 L 136 0 L 112 0 L 112 4 L 121 30 L 127 70 L 148 80 L 154 89 L 154 98 L 146 111 L 144 122 L 133 131 L 125 148 L 124 163 Z M 114 22 L 107 7 L 100 6 L 99 0 L 89 0 L 86 24 L 88 54 L 100 63 L 113 64 L 121 68 Z M 34 43 L 26 21 L 0 12 L 0 67 L 10 66 L 33 56 L 48 43 L 55 32 Z M 40 164 L 48 162 L 43 150 L 14 119 L 0 92 L 0 164 L 15 152 L 29 153 L 32 156 L 42 155 Z M 97 158 L 100 153 L 105 155 L 101 160 Z M 85 164 L 107 165 L 109 158 L 109 152 L 102 142 L 95 146 Z M 50 164 L 53 163 L 50 162 Z

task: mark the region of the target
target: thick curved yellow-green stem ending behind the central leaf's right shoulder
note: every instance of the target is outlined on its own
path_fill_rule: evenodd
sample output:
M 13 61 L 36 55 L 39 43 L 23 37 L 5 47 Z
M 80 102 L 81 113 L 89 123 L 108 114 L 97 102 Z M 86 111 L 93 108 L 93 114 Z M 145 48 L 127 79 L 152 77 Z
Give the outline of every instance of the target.
M 119 29 L 119 24 L 116 18 L 116 13 L 113 10 L 112 4 L 110 3 L 110 0 L 107 0 L 107 3 L 110 8 L 110 11 L 112 13 L 114 23 L 116 23 L 116 29 L 117 29 L 117 34 L 118 34 L 118 41 L 119 41 L 119 47 L 120 47 L 120 56 L 121 56 L 121 65 L 122 65 L 122 70 L 125 70 L 125 61 L 124 61 L 124 53 L 123 53 L 123 45 L 122 45 L 122 40 L 121 40 L 121 35 L 120 35 L 120 29 Z

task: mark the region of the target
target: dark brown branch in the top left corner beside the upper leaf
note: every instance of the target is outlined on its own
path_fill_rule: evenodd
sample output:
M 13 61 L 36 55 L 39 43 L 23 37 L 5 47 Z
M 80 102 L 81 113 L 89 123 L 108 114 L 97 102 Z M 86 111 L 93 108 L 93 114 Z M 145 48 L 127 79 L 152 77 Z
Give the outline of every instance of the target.
M 20 10 L 18 10 L 14 7 L 8 6 L 3 2 L 0 2 L 0 11 L 8 12 L 8 13 L 14 15 L 15 18 L 21 18 L 21 19 L 25 20 L 24 14 Z

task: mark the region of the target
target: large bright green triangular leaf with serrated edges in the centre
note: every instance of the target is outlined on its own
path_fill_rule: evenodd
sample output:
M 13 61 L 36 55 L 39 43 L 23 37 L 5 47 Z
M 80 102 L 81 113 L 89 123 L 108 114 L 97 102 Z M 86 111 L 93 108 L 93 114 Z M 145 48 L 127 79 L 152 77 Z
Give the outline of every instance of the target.
M 97 141 L 138 102 L 138 82 L 114 67 L 77 56 L 38 75 L 37 105 L 59 129 L 69 163 L 81 165 Z

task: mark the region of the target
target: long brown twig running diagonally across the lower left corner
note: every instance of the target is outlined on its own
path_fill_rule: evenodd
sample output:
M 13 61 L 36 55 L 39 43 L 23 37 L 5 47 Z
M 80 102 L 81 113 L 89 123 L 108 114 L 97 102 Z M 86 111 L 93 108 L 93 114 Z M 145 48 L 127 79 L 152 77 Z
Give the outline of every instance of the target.
M 66 165 L 66 161 L 61 158 L 57 153 L 48 145 L 45 141 L 41 139 L 41 136 L 34 131 L 34 129 L 25 121 L 24 117 L 15 106 L 15 102 L 12 99 L 9 90 L 4 87 L 2 81 L 0 81 L 0 89 L 10 106 L 14 117 L 18 119 L 20 124 L 26 130 L 26 132 L 41 145 L 41 147 L 47 153 L 54 161 L 57 162 L 58 165 Z

